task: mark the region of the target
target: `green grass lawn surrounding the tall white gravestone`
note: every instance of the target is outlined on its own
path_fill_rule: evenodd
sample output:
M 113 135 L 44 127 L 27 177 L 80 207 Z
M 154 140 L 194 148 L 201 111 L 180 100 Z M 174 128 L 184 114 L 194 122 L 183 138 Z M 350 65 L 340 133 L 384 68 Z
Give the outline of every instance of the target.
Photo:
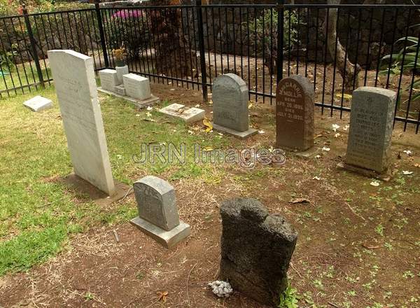
M 33 113 L 22 102 L 41 94 L 54 108 Z M 167 103 L 166 103 L 167 104 Z M 53 87 L 0 99 L 0 275 L 29 269 L 59 253 L 73 233 L 95 225 L 128 221 L 136 215 L 134 204 L 116 203 L 101 209 L 77 191 L 55 181 L 72 172 L 62 120 Z M 129 185 L 146 174 L 169 181 L 200 176 L 218 183 L 223 170 L 193 162 L 193 144 L 213 148 L 228 145 L 218 134 L 188 133 L 185 123 L 151 111 L 136 111 L 120 99 L 105 97 L 102 115 L 113 176 Z M 144 119 L 152 118 L 156 122 Z M 204 142 L 205 140 L 205 142 Z M 188 147 L 184 165 L 138 164 L 140 144 L 166 142 Z M 233 141 L 235 142 L 235 141 Z M 81 200 L 81 201 L 80 201 Z

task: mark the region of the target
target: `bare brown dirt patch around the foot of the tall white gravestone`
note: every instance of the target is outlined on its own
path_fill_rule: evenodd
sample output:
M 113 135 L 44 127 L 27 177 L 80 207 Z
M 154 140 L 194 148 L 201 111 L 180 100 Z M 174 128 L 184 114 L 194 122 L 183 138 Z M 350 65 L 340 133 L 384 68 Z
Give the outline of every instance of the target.
M 114 185 L 116 186 L 116 192 L 112 195 L 106 195 L 102 190 L 99 190 L 96 186 L 93 186 L 88 181 L 76 176 L 76 174 L 69 174 L 68 176 L 60 177 L 59 182 L 64 183 L 66 186 L 70 186 L 77 193 L 87 195 L 87 197 L 92 200 L 95 204 L 100 207 L 109 206 L 113 202 L 116 202 L 127 195 L 132 193 L 130 186 L 125 185 L 114 179 Z

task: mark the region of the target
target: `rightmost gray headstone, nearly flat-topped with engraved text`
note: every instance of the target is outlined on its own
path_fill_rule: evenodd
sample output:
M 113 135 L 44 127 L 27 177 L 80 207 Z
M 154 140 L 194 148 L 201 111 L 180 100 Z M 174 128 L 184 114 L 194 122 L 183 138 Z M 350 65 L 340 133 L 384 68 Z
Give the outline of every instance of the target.
M 346 164 L 379 173 L 387 169 L 396 98 L 379 87 L 353 91 Z

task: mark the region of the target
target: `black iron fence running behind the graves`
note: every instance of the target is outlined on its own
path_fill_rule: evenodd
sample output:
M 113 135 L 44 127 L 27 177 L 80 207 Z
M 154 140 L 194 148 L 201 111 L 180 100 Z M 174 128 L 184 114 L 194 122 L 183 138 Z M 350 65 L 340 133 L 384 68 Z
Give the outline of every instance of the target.
M 395 123 L 420 127 L 420 6 L 193 5 L 94 8 L 0 18 L 0 96 L 50 83 L 47 50 L 90 55 L 95 69 L 116 65 L 153 83 L 202 90 L 237 73 L 249 97 L 273 104 L 276 83 L 300 73 L 330 116 L 351 109 L 361 85 L 398 92 Z M 393 55 L 389 57 L 388 55 Z

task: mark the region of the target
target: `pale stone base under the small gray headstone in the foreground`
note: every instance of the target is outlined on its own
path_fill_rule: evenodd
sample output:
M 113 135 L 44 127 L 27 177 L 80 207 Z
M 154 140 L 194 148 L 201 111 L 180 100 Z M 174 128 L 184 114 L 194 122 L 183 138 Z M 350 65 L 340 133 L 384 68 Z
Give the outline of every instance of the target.
M 188 237 L 191 232 L 190 225 L 184 223 L 183 221 L 180 221 L 179 225 L 169 231 L 163 230 L 162 228 L 159 228 L 158 226 L 153 225 L 153 223 L 149 223 L 140 217 L 133 218 L 130 223 L 166 248 L 174 247 L 180 241 Z

